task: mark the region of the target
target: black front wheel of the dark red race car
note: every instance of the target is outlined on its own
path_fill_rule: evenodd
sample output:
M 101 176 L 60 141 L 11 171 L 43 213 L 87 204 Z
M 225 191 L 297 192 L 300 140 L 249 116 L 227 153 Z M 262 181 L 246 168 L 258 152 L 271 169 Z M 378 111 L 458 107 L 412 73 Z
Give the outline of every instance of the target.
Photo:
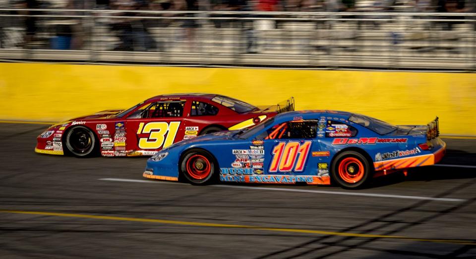
M 94 132 L 85 126 L 75 126 L 68 130 L 63 143 L 67 152 L 76 157 L 90 157 L 97 155 L 98 152 Z

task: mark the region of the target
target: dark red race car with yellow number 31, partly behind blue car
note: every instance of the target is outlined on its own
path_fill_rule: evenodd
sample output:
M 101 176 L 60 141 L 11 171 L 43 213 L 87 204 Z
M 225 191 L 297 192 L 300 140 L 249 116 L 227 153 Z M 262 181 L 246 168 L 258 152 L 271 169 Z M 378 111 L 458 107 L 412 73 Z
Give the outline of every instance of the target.
M 255 107 L 213 94 L 174 94 L 150 98 L 126 110 L 106 110 L 75 118 L 38 136 L 35 152 L 80 157 L 154 155 L 182 139 L 254 126 L 294 110 L 294 99 Z

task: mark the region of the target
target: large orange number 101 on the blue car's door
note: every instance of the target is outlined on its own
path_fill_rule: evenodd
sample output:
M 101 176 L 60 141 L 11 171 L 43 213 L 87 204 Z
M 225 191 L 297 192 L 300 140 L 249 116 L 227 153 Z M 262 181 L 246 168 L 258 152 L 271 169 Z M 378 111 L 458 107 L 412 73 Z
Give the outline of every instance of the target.
M 273 148 L 270 172 L 302 172 L 311 149 L 312 141 L 300 144 L 297 141 L 280 142 Z M 294 169 L 293 169 L 294 168 Z

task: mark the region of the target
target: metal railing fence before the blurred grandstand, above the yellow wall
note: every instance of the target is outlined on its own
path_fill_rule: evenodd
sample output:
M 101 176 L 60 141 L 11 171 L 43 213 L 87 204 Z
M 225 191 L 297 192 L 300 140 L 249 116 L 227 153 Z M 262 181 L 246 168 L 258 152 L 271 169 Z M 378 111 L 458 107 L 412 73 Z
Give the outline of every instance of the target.
M 476 13 L 0 9 L 0 58 L 476 70 Z

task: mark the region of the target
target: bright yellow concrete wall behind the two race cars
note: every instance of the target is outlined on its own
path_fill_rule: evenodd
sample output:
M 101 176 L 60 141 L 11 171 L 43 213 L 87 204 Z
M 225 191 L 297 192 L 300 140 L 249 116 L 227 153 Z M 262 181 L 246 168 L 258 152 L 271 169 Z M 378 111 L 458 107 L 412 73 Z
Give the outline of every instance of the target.
M 443 134 L 476 135 L 476 74 L 0 63 L 0 119 L 60 121 L 149 97 L 217 93 L 254 105 L 291 96 L 394 124 L 440 117 Z

